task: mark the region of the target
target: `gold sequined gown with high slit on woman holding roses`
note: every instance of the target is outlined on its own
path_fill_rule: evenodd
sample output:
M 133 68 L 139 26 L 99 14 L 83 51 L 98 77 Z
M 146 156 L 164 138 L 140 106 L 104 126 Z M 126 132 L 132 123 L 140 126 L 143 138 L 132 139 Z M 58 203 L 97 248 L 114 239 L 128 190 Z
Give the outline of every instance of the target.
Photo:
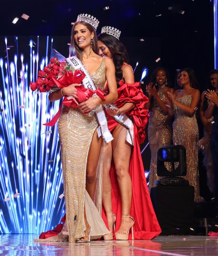
M 101 65 L 92 75 L 92 79 L 97 88 L 104 88 L 106 81 L 105 58 L 102 59 Z M 68 232 L 69 242 L 74 242 L 85 235 L 85 200 L 87 220 L 91 226 L 91 237 L 94 239 L 108 233 L 104 221 L 85 189 L 88 151 L 97 126 L 95 115 L 84 115 L 78 108 L 63 106 L 58 122 L 66 208 L 66 221 L 62 231 Z M 63 240 L 61 233 L 43 240 Z

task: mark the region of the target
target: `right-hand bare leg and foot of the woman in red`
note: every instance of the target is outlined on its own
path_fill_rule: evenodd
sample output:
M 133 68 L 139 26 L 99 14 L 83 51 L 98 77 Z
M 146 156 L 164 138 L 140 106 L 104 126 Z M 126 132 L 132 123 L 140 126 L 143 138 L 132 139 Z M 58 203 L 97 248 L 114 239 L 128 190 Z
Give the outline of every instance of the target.
M 120 124 L 114 129 L 114 140 L 112 141 L 112 149 L 113 161 L 120 189 L 122 215 L 129 216 L 132 201 L 132 181 L 129 175 L 132 146 L 125 140 L 126 132 L 127 129 Z M 119 230 L 128 231 L 132 223 L 132 219 L 122 217 Z M 119 233 L 123 234 L 124 232 Z

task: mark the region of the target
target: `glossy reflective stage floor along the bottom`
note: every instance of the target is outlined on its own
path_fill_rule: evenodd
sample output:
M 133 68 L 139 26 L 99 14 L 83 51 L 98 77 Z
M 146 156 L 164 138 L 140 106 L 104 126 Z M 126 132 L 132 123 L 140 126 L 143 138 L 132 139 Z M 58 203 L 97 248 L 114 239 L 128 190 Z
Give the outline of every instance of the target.
M 218 255 L 218 237 L 159 236 L 152 241 L 91 241 L 90 243 L 33 242 L 33 234 L 1 234 L 0 255 Z

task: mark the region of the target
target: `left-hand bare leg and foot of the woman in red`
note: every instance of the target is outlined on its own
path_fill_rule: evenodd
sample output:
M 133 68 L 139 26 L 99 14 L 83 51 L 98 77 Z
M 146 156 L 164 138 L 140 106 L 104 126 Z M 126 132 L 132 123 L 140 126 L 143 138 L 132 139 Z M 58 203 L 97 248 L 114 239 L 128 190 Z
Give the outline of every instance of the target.
M 110 167 L 112 160 L 112 145 L 111 142 L 104 143 L 104 156 L 103 156 L 103 179 L 102 179 L 102 197 L 103 206 L 106 214 L 113 212 L 112 210 L 112 200 L 111 200 L 111 180 L 110 180 Z M 112 233 L 113 222 L 115 221 L 115 216 L 112 214 L 106 215 L 108 228 Z

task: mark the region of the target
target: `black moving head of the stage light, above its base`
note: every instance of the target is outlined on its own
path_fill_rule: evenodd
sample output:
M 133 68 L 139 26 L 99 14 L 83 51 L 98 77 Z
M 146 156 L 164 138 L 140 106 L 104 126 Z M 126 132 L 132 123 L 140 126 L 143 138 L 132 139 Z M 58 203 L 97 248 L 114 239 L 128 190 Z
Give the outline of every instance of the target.
M 165 167 L 165 162 L 172 163 L 172 171 Z M 175 169 L 175 163 L 179 163 Z M 157 175 L 162 177 L 185 176 L 186 166 L 186 148 L 182 145 L 169 145 L 160 147 L 157 151 Z

